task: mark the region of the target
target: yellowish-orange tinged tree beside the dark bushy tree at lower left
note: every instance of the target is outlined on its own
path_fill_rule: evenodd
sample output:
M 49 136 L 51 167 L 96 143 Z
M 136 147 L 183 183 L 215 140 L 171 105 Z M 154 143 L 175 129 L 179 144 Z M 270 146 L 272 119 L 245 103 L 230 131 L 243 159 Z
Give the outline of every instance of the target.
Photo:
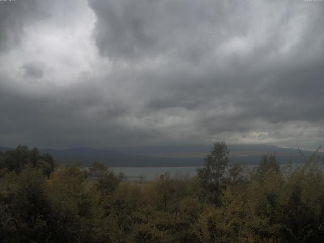
M 62 166 L 48 181 L 48 194 L 53 206 L 51 237 L 53 242 L 102 242 L 104 211 L 98 195 L 89 188 L 85 171 L 77 165 Z M 106 230 L 105 230 L 106 231 Z

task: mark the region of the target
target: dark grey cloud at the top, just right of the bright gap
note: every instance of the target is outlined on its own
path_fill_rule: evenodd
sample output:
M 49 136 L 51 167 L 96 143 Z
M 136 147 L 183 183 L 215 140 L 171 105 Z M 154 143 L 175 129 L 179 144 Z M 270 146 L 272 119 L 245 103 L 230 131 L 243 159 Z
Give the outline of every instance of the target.
M 90 0 L 89 5 L 98 19 L 94 37 L 100 54 L 116 60 L 155 58 L 165 52 L 200 60 L 209 51 L 208 41 L 220 42 L 234 31 L 247 30 L 238 22 L 232 30 L 233 22 L 239 21 L 235 14 L 248 8 L 244 1 Z M 218 27 L 226 31 L 215 33 Z

